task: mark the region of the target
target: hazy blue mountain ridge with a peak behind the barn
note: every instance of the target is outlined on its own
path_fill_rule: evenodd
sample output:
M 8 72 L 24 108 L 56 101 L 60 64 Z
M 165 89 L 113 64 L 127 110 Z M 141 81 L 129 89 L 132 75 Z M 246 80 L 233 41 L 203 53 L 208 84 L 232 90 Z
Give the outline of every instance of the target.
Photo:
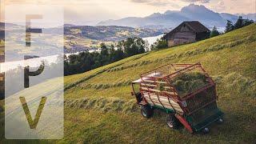
M 160 27 L 174 28 L 183 21 L 197 20 L 202 22 L 207 27 L 224 27 L 226 26 L 226 20 L 235 22 L 238 16 L 250 18 L 256 20 L 256 14 L 228 14 L 218 13 L 206 8 L 202 5 L 190 4 L 189 6 L 182 7 L 181 10 L 166 10 L 165 13 L 154 13 L 144 18 L 139 17 L 127 17 L 117 20 L 107 20 L 98 22 L 97 26 L 132 26 L 132 27 Z M 236 18 L 236 19 L 235 19 Z

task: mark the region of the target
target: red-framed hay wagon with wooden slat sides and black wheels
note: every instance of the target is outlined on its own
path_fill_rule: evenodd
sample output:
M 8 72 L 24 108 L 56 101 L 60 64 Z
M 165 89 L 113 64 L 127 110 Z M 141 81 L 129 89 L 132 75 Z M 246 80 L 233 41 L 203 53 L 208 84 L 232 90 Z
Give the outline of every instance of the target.
M 172 80 L 191 72 L 203 74 L 206 84 L 186 94 L 179 94 Z M 132 82 L 132 88 L 142 116 L 150 118 L 154 109 L 163 110 L 167 113 L 166 121 L 170 128 L 176 129 L 182 123 L 190 133 L 206 133 L 211 123 L 223 122 L 223 113 L 216 103 L 216 85 L 200 63 L 158 67 Z

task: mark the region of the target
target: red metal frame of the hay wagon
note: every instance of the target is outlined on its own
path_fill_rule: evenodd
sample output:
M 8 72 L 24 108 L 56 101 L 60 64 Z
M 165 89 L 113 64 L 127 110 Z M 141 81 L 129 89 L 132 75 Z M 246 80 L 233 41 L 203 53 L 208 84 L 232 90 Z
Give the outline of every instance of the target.
M 172 69 L 173 69 L 174 72 L 172 72 L 170 74 L 167 73 L 167 74 L 161 75 L 161 76 L 158 75 L 158 74 L 160 74 L 159 71 L 161 72 L 161 70 L 163 70 L 163 72 L 165 73 L 166 71 L 169 72 Z M 191 70 L 195 70 L 195 69 L 200 70 L 203 74 L 206 75 L 206 80 L 209 82 L 209 84 L 199 88 L 198 90 L 195 90 L 194 92 L 192 92 L 190 94 L 186 94 L 185 97 L 181 98 L 178 95 L 178 91 L 175 89 L 175 87 L 171 85 L 170 79 L 174 78 L 178 74 L 184 74 L 186 72 L 190 72 Z M 144 94 L 143 93 L 146 92 L 146 93 L 148 93 L 148 96 L 149 96 L 149 99 L 150 99 L 151 103 L 153 103 L 154 106 L 157 106 L 153 102 L 153 100 L 150 98 L 150 93 L 154 93 L 158 97 L 158 101 L 162 105 L 163 109 L 166 110 L 166 107 L 162 104 L 162 102 L 159 99 L 158 92 L 152 91 L 152 89 L 154 89 L 154 88 L 152 88 L 153 84 L 152 84 L 151 87 L 148 86 L 148 85 L 145 85 L 146 81 L 147 82 L 148 81 L 152 82 L 154 84 L 154 86 L 160 85 L 161 82 L 165 82 L 165 84 L 167 86 L 170 86 L 170 91 L 167 91 L 169 93 L 166 93 L 166 92 L 162 91 L 161 94 L 165 95 L 168 98 L 169 103 L 170 103 L 170 98 L 174 102 L 177 102 L 178 105 L 181 107 L 181 109 L 183 110 L 183 112 L 186 115 L 194 114 L 196 111 L 202 109 L 202 107 L 207 106 L 211 102 L 215 102 L 218 99 L 218 96 L 216 94 L 216 89 L 215 89 L 215 83 L 214 83 L 213 79 L 210 78 L 209 74 L 206 73 L 206 70 L 204 70 L 202 68 L 202 65 L 200 63 L 196 63 L 196 64 L 168 64 L 168 65 L 165 65 L 165 66 L 160 66 L 160 67 L 158 67 L 158 68 L 156 68 L 154 70 L 147 71 L 145 74 L 141 74 L 141 82 L 139 84 L 141 86 L 140 87 L 140 91 L 141 91 L 141 94 L 142 94 L 142 101 L 143 101 L 143 103 L 146 103 L 146 104 L 149 103 L 149 102 L 146 101 L 146 98 L 144 98 Z M 144 86 L 142 86 L 142 83 L 144 84 Z M 195 110 L 189 110 L 187 108 L 187 106 L 183 106 L 182 105 L 182 102 L 186 102 L 187 100 L 190 100 L 191 98 L 195 97 L 196 94 L 201 93 L 203 90 L 209 89 L 211 86 L 214 86 L 213 87 L 214 88 L 214 98 L 212 99 L 212 101 L 206 102 L 205 104 L 203 104 L 202 106 L 198 107 Z M 142 90 L 142 87 L 144 88 L 144 90 Z M 145 90 L 145 88 L 147 90 Z M 192 101 L 192 102 L 194 102 L 194 101 Z M 172 104 L 170 104 L 170 106 L 174 109 Z M 174 111 L 174 112 L 176 113 L 176 111 Z M 182 122 L 182 124 L 186 127 L 186 129 L 190 131 L 190 133 L 193 132 L 190 124 L 188 122 L 186 122 L 186 119 L 182 117 L 182 114 L 175 114 L 175 116 L 176 116 L 176 118 L 178 118 L 178 120 L 180 122 Z

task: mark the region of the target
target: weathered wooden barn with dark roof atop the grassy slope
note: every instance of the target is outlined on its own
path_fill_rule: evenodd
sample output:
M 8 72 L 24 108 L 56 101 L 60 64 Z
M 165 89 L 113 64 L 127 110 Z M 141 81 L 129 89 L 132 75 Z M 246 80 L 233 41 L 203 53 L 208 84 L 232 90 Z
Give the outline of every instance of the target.
M 163 36 L 168 46 L 178 46 L 210 38 L 210 30 L 198 21 L 182 22 L 170 33 Z

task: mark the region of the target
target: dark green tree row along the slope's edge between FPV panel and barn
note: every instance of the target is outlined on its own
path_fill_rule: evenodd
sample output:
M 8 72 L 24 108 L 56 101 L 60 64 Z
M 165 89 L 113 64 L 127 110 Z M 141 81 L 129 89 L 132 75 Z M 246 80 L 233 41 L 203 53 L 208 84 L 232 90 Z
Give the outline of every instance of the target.
M 146 42 L 142 38 L 127 38 L 118 42 L 114 47 L 101 44 L 101 52 L 72 54 L 64 58 L 65 75 L 79 74 L 88 70 L 93 70 L 100 66 L 105 66 L 112 62 L 117 62 L 122 58 L 127 58 L 135 54 L 145 53 Z

